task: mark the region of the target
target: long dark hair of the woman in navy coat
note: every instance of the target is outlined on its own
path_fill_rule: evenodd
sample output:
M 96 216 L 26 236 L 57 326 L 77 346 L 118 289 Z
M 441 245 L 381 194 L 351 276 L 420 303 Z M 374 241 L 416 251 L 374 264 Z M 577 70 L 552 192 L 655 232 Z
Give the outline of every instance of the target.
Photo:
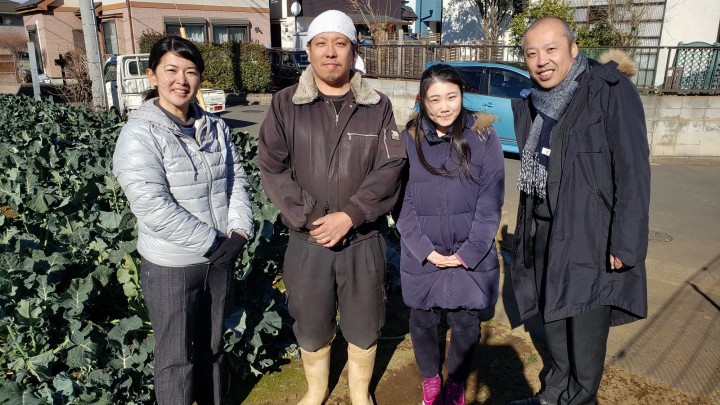
M 438 82 L 456 84 L 460 88 L 460 99 L 462 99 L 465 94 L 463 91 L 464 83 L 462 77 L 460 76 L 460 73 L 458 73 L 458 71 L 455 70 L 455 68 L 453 68 L 452 66 L 445 64 L 432 65 L 423 72 L 422 77 L 420 78 L 420 96 L 418 98 L 418 105 L 420 107 L 420 111 L 418 112 L 415 119 L 411 120 L 408 123 L 409 128 L 414 128 L 415 149 L 417 150 L 418 160 L 420 161 L 420 164 L 425 168 L 425 170 L 427 170 L 433 175 L 453 177 L 456 173 L 462 171 L 469 179 L 476 183 L 479 183 L 480 180 L 473 176 L 472 172 L 470 171 L 470 166 L 472 165 L 472 161 L 470 159 L 472 152 L 470 150 L 470 145 L 468 145 L 467 140 L 465 140 L 465 137 L 463 136 L 463 120 L 467 114 L 471 113 L 465 107 L 461 108 L 460 114 L 452 123 L 450 133 L 445 134 L 445 136 L 450 137 L 453 148 L 455 149 L 455 153 L 457 154 L 457 167 L 453 171 L 450 171 L 445 166 L 447 161 L 452 156 L 452 149 L 450 150 L 448 156 L 445 158 L 439 168 L 431 166 L 425 159 L 425 154 L 423 153 L 422 148 L 423 142 L 425 141 L 425 136 L 423 134 L 421 123 L 424 120 L 432 122 L 427 113 L 425 99 L 427 97 L 427 92 L 430 86 Z

